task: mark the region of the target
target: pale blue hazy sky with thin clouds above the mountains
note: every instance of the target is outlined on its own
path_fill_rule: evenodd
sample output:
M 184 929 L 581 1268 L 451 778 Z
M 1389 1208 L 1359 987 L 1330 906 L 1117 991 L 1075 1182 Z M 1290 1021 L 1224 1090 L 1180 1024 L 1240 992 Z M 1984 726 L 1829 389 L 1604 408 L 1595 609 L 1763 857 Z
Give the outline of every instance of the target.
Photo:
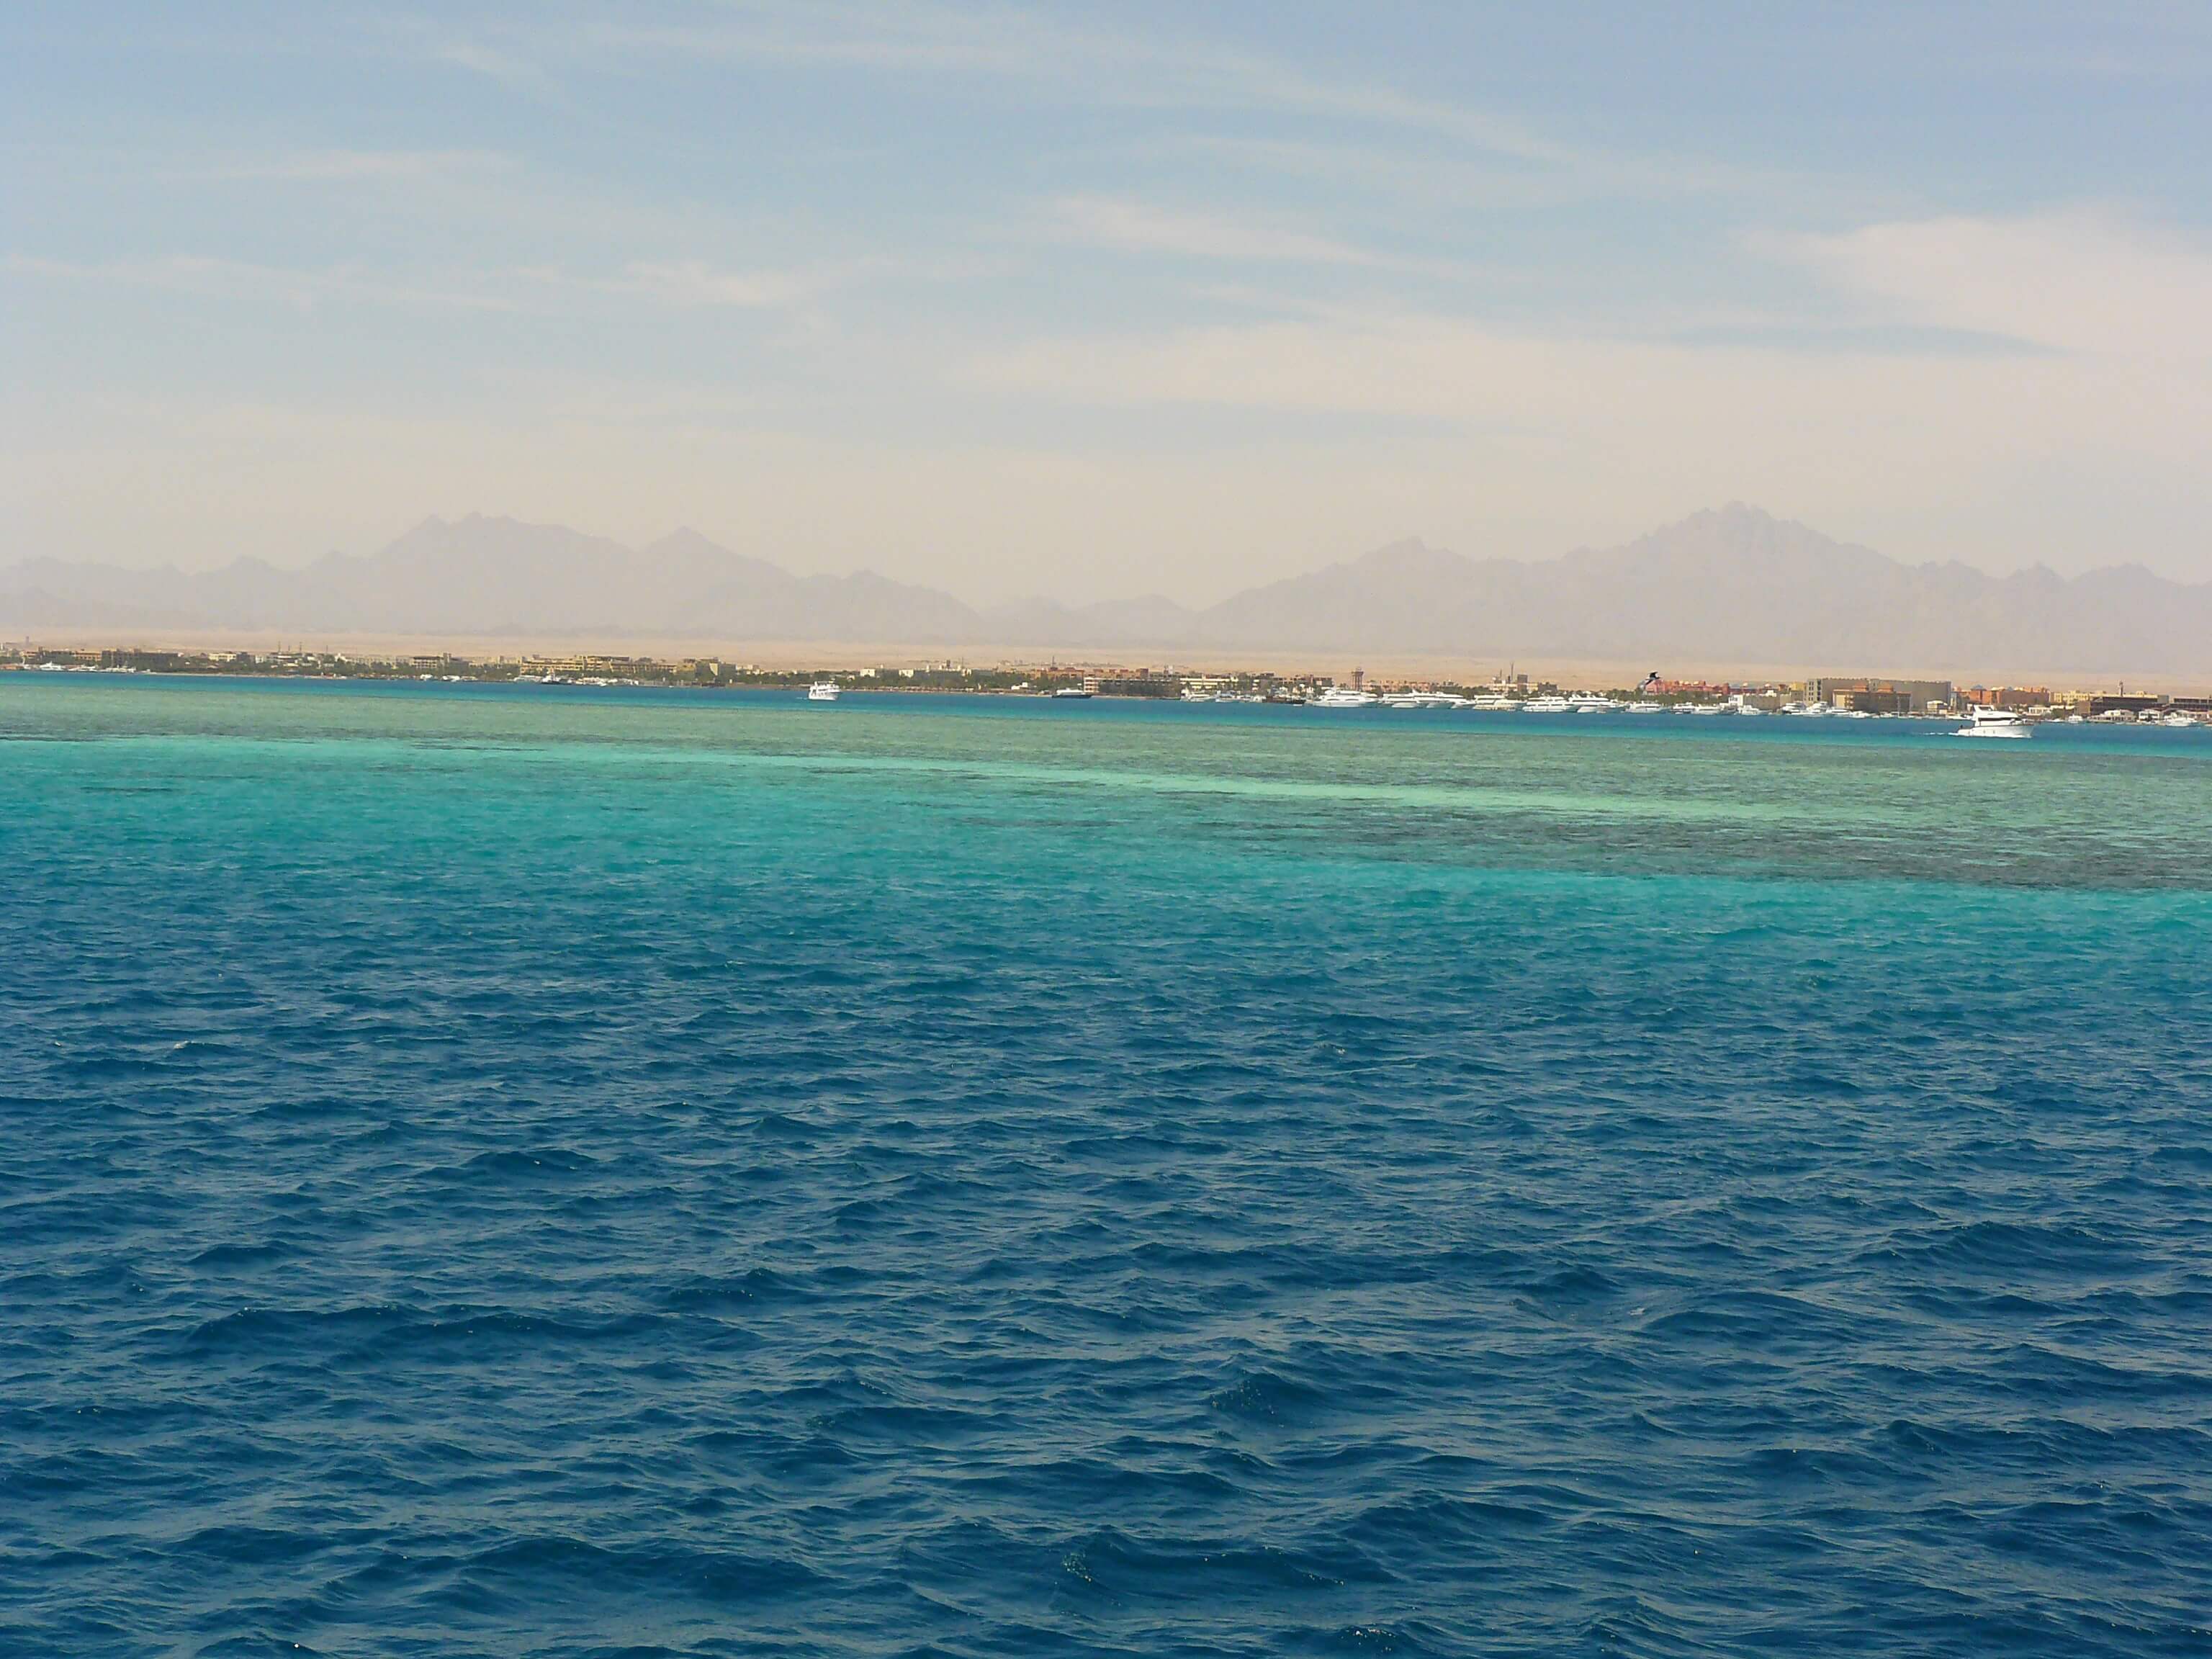
M 2212 7 L 0 9 L 0 560 L 2212 577 Z

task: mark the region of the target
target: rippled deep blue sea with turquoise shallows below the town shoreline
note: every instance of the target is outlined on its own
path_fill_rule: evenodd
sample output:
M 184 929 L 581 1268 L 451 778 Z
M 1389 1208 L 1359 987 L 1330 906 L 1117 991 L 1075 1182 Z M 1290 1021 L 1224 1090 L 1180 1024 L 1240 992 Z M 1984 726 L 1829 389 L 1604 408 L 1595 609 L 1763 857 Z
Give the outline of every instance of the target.
M 2212 1652 L 2212 732 L 0 677 L 0 1650 Z

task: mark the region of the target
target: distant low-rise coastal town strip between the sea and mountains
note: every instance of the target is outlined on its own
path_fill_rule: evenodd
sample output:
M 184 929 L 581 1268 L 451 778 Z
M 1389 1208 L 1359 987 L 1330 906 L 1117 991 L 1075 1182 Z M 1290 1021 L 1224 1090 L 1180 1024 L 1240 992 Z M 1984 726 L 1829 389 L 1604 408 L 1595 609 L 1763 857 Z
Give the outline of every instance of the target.
M 498 686 L 679 686 L 823 688 L 852 692 L 987 692 L 1029 697 L 1150 697 L 1219 703 L 1325 703 L 1398 708 L 1493 708 L 1537 712 L 1677 710 L 1701 714 L 1964 717 L 2011 710 L 2028 721 L 2212 723 L 2212 697 L 2159 690 L 1955 686 L 1949 679 L 1812 677 L 1801 681 L 1666 679 L 1626 686 L 1566 686 L 1511 668 L 1482 681 L 1334 675 L 1212 672 L 1161 664 L 929 661 L 865 668 L 763 668 L 721 657 L 462 657 L 352 655 L 336 650 L 144 650 L 0 646 L 0 672 L 77 675 L 252 675 L 285 679 L 385 679 Z

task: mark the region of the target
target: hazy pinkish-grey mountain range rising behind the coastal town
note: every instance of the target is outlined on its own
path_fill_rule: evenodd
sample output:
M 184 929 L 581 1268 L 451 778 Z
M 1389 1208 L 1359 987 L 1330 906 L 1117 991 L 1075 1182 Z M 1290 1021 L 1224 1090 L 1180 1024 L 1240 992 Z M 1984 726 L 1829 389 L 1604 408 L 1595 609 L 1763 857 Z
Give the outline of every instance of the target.
M 1203 608 L 1164 597 L 975 608 L 869 571 L 792 575 L 695 531 L 630 549 L 469 515 L 299 568 L 0 566 L 0 630 L 40 628 L 2205 672 L 2212 584 L 2139 564 L 2079 577 L 1900 564 L 1732 504 L 1553 560 L 1396 542 Z

